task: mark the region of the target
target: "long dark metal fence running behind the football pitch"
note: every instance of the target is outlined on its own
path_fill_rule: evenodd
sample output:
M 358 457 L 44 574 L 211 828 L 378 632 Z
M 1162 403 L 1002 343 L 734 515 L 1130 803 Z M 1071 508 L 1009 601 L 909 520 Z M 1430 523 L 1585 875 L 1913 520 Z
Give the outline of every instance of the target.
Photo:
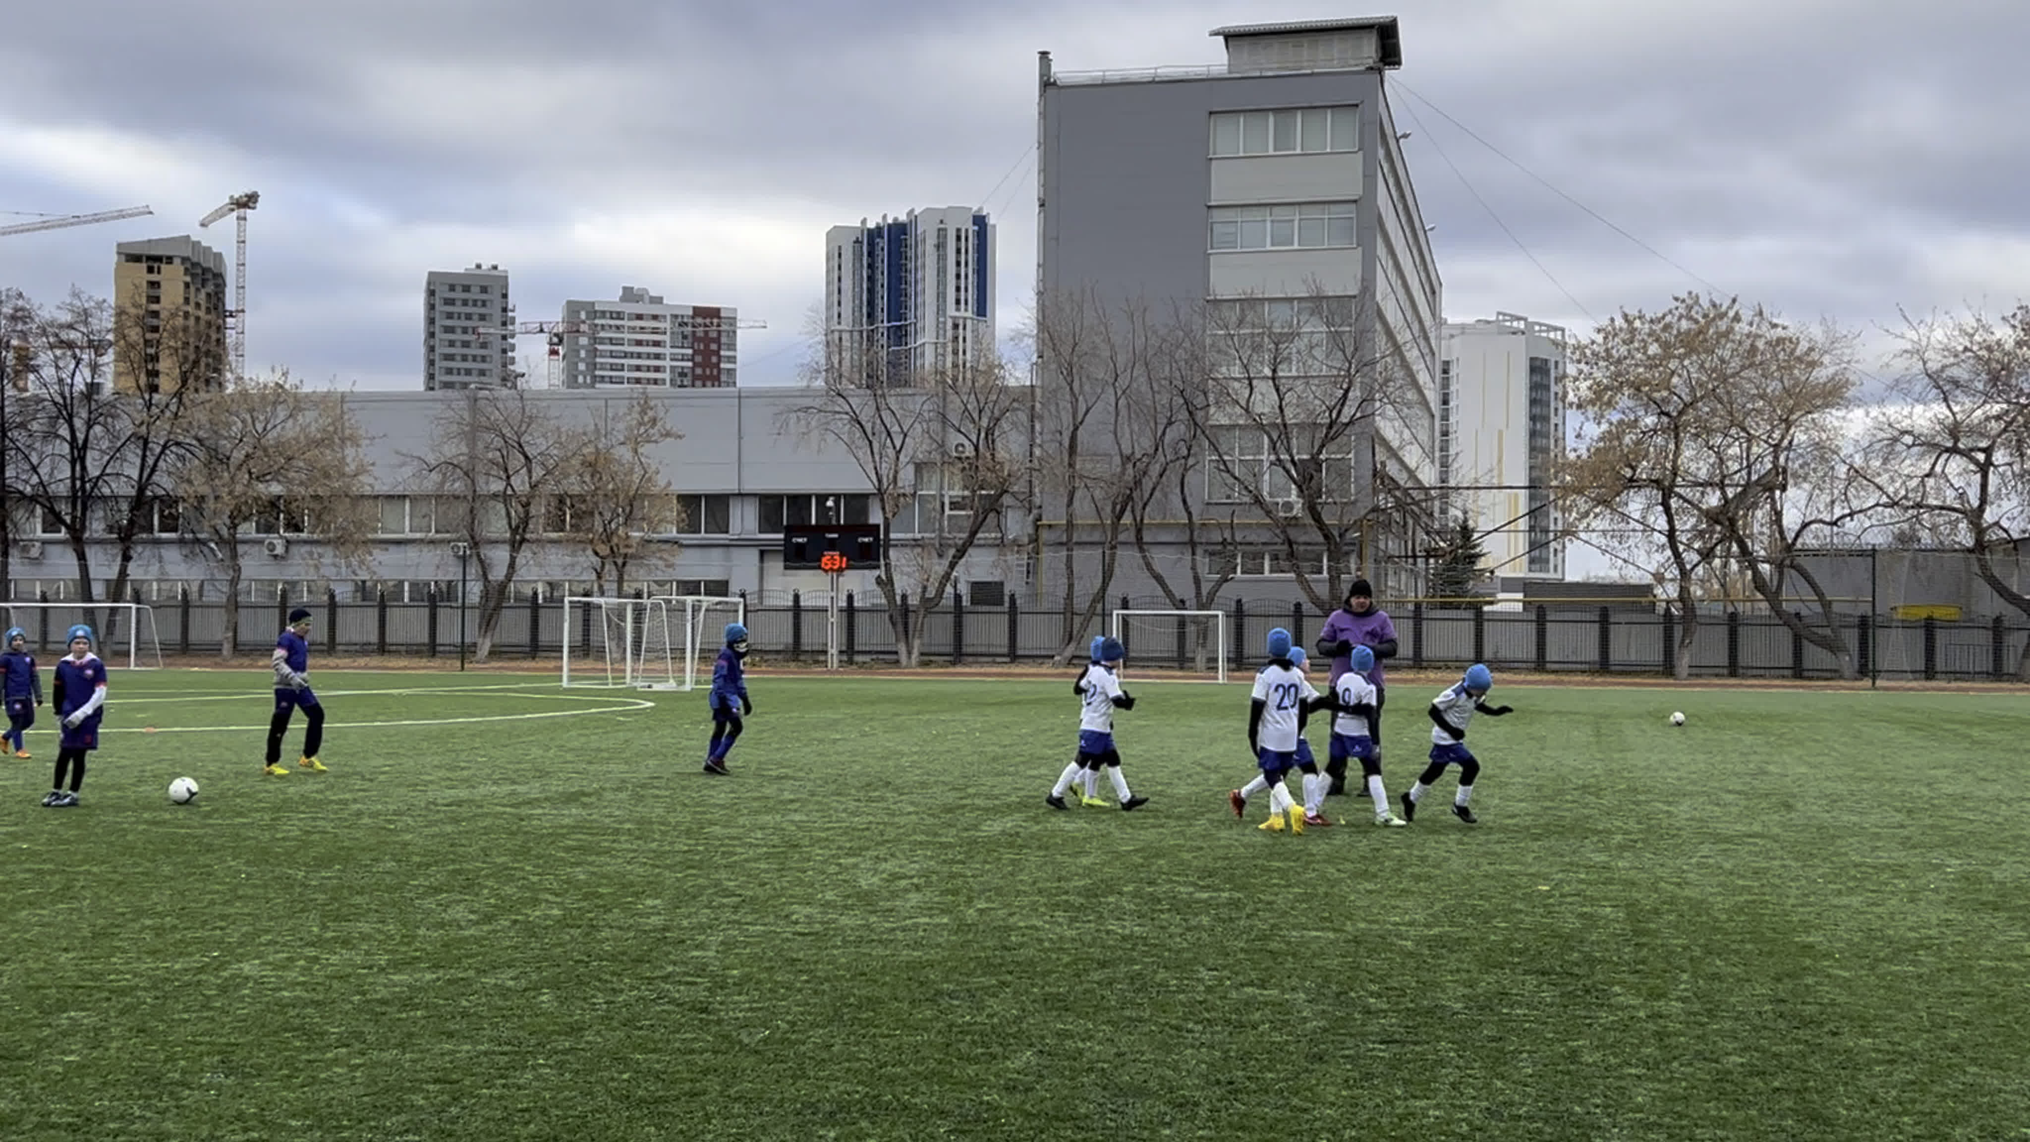
M 903 599 L 907 604 L 907 599 Z M 1151 599 L 1119 599 L 1123 610 L 1161 608 Z M 162 654 L 217 654 L 223 628 L 223 601 L 164 604 L 152 610 L 154 640 Z M 266 650 L 268 640 L 286 622 L 294 606 L 315 614 L 313 646 L 321 654 L 339 656 L 453 656 L 479 630 L 479 612 L 461 612 L 457 599 L 430 597 L 422 604 L 392 601 L 386 595 L 371 601 L 341 601 L 335 593 L 321 599 L 280 599 L 274 604 L 238 604 L 240 644 Z M 95 618 L 89 606 L 53 608 L 37 616 L 28 634 L 39 646 L 53 646 L 49 634 L 61 634 L 71 622 Z M 922 610 L 907 606 L 911 632 L 922 632 L 924 662 L 993 664 L 1043 662 L 1068 642 L 1064 620 L 1056 610 L 1025 608 L 1009 597 L 999 608 L 966 606 L 954 595 L 942 606 Z M 1226 610 L 1228 669 L 1244 669 L 1263 658 L 1271 628 L 1287 628 L 1299 646 L 1307 646 L 1324 626 L 1324 616 L 1303 604 L 1257 604 L 1232 599 Z M 1679 638 L 1679 616 L 1648 608 L 1577 608 L 1531 606 L 1527 610 L 1441 610 L 1413 604 L 1393 612 L 1401 652 L 1397 667 L 1456 669 L 1486 662 L 1494 669 L 1537 673 L 1592 675 L 1671 675 Z M 581 612 L 581 624 L 591 624 L 591 612 Z M 1175 636 L 1163 632 L 1161 618 L 1137 620 L 1133 662 L 1190 671 L 1200 664 L 1190 626 L 1198 620 L 1175 620 Z M 1817 620 L 1813 620 L 1817 622 Z M 851 593 L 840 599 L 840 662 L 873 664 L 895 658 L 895 628 L 887 608 L 863 606 Z M 1070 642 L 1082 644 L 1100 634 L 1106 616 L 1094 630 L 1080 632 Z M 47 628 L 47 630 L 41 630 Z M 2004 618 L 1979 620 L 1896 620 L 1890 616 L 1839 616 L 1837 628 L 1853 648 L 1862 677 L 1945 679 L 1945 681 L 2006 681 L 2014 679 L 2030 646 L 2030 624 Z M 824 662 L 826 601 L 806 604 L 790 595 L 784 604 L 749 604 L 749 642 L 763 660 Z M 146 632 L 140 632 L 146 638 Z M 493 634 L 495 660 L 556 658 L 562 652 L 564 606 L 558 599 L 514 601 L 501 612 Z M 706 644 L 715 644 L 708 636 Z M 572 632 L 574 646 L 589 646 L 591 632 Z M 144 644 L 146 648 L 146 644 Z M 1703 614 L 1697 624 L 1691 675 L 1699 679 L 1837 679 L 1837 660 L 1766 614 Z

